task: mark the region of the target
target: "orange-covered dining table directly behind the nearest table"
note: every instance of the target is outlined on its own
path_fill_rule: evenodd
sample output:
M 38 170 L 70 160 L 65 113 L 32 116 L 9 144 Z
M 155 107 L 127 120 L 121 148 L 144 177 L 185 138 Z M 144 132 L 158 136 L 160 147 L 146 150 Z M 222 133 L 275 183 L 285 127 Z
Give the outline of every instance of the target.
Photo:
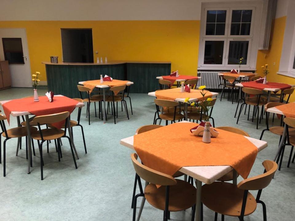
M 180 88 L 178 87 L 178 88 L 171 88 L 171 89 L 166 89 L 166 90 L 158 90 L 158 91 L 149 92 L 148 95 L 159 98 L 159 99 L 167 99 L 167 100 L 177 101 L 179 103 L 184 103 L 185 119 L 187 119 L 188 103 L 185 102 L 185 99 L 190 98 L 188 101 L 191 103 L 194 101 L 199 101 L 203 98 L 202 95 L 200 94 L 201 90 L 191 89 L 190 91 L 191 92 L 180 92 Z M 171 92 L 171 93 L 169 93 L 169 92 Z M 215 98 L 218 95 L 217 92 L 210 92 L 210 91 L 208 91 L 208 92 L 210 93 L 211 98 Z M 161 95 L 161 93 L 165 93 L 165 95 L 159 97 L 159 95 Z M 163 109 L 162 109 L 162 111 L 163 111 Z

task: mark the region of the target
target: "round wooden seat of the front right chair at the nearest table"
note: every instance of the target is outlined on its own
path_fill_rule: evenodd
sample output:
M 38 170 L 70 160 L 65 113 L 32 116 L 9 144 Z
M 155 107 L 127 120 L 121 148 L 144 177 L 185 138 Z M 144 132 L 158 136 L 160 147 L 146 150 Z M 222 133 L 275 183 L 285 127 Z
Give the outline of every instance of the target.
M 228 216 L 240 216 L 244 190 L 227 182 L 214 182 L 202 186 L 202 202 L 209 209 Z M 245 216 L 256 209 L 255 197 L 248 192 Z

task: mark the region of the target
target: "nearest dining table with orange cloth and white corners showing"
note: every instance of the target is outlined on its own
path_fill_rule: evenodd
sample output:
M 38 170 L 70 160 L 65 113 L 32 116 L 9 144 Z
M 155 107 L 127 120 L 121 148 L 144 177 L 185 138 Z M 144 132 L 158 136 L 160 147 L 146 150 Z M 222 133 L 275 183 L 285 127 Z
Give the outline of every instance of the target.
M 120 144 L 136 151 L 144 165 L 151 169 L 172 174 L 174 171 L 171 171 L 171 168 L 174 168 L 185 174 L 184 180 L 187 180 L 187 176 L 194 178 L 195 220 L 200 221 L 202 184 L 211 184 L 230 171 L 233 171 L 234 175 L 233 184 L 237 184 L 237 173 L 243 178 L 249 175 L 257 153 L 267 147 L 267 142 L 215 129 L 219 132 L 219 136 L 211 138 L 211 143 L 206 144 L 202 142 L 202 137 L 192 135 L 189 130 L 197 125 L 181 121 L 121 139 Z M 171 133 L 171 129 L 176 129 L 175 133 Z M 159 149 L 157 148 L 159 141 L 169 142 L 169 145 L 161 145 Z M 178 164 L 179 159 L 183 160 L 183 164 Z M 144 201 L 143 198 L 139 215 Z

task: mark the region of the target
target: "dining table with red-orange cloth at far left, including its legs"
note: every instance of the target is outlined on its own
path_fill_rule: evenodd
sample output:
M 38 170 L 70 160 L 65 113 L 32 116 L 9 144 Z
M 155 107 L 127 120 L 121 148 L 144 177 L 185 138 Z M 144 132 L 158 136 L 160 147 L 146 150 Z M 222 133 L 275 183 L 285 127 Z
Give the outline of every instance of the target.
M 54 95 L 53 97 L 53 103 L 55 102 L 54 101 L 54 98 L 57 98 L 57 97 L 60 97 L 60 98 L 65 98 L 65 99 L 70 99 L 68 97 L 65 97 L 63 95 Z M 44 98 L 44 99 L 43 99 Z M 43 112 L 50 112 L 50 114 L 57 114 L 59 112 L 62 112 L 60 111 L 61 109 L 63 109 L 64 107 L 66 107 L 65 105 L 65 102 L 59 102 L 59 105 L 58 107 L 54 107 L 52 108 L 51 105 L 50 105 L 50 102 L 48 100 L 47 97 L 43 97 L 41 99 L 41 97 L 39 97 L 40 101 L 39 102 L 34 102 L 33 101 L 33 97 L 32 98 L 23 98 L 23 99 L 26 99 L 27 100 L 27 105 L 30 105 L 31 106 L 31 109 L 34 110 L 34 103 L 38 103 L 38 105 L 40 105 L 42 103 L 42 110 Z M 29 100 L 31 99 L 31 101 Z M 20 99 L 14 99 L 14 100 L 20 100 Z M 14 100 L 4 100 L 4 101 L 0 101 L 0 105 L 3 107 L 3 105 L 5 106 L 5 104 L 9 103 L 10 101 L 14 101 Z M 70 100 L 73 100 L 73 99 L 70 99 Z M 56 104 L 57 102 L 55 102 L 54 104 Z M 81 103 L 81 102 L 77 102 L 75 104 L 75 107 L 83 107 L 85 106 L 84 103 Z M 4 109 L 5 107 L 3 107 Z M 40 108 L 40 106 L 39 106 Z M 20 108 L 18 108 L 20 109 Z M 13 109 L 12 110 L 8 110 L 10 112 L 10 115 L 13 116 L 13 117 L 17 117 L 17 123 L 18 123 L 18 127 L 21 126 L 21 122 L 20 122 L 20 117 L 21 116 L 25 116 L 25 120 L 26 120 L 26 125 L 29 125 L 29 122 L 33 120 L 33 118 L 29 118 L 29 115 L 34 115 L 33 113 L 29 112 L 29 111 L 26 111 L 26 110 L 23 110 L 23 111 L 14 111 Z M 40 110 L 39 110 L 40 111 Z M 9 115 L 6 115 L 6 118 L 8 118 L 9 120 Z M 69 128 L 68 132 L 69 132 L 69 137 L 70 137 L 70 140 L 71 140 L 71 143 L 72 143 L 72 146 L 73 146 L 73 149 L 76 153 L 76 156 L 77 158 L 79 159 L 79 156 L 78 156 L 78 153 L 77 153 L 77 150 L 76 150 L 76 147 L 75 147 L 75 144 L 74 144 L 74 141 L 73 141 L 73 134 L 70 130 L 70 115 L 68 117 L 68 120 L 67 120 L 67 127 Z M 32 161 L 32 157 L 31 157 L 31 153 L 32 153 L 32 148 L 31 148 L 31 131 L 30 131 L 30 127 L 27 126 L 27 134 L 28 134 L 28 170 L 27 170 L 27 173 L 30 174 L 30 166 L 31 166 L 31 161 Z M 18 145 L 19 145 L 19 141 L 18 141 Z M 18 146 L 17 146 L 17 151 L 18 151 Z

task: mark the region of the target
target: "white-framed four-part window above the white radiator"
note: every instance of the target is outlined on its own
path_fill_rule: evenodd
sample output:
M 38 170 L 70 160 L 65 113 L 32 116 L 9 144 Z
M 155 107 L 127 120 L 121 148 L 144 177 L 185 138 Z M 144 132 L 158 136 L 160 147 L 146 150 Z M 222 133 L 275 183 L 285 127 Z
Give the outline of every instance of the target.
M 254 17 L 255 9 L 259 14 L 262 7 L 258 4 L 202 3 L 198 69 L 237 68 L 240 58 L 242 69 L 256 69 L 260 23 Z

